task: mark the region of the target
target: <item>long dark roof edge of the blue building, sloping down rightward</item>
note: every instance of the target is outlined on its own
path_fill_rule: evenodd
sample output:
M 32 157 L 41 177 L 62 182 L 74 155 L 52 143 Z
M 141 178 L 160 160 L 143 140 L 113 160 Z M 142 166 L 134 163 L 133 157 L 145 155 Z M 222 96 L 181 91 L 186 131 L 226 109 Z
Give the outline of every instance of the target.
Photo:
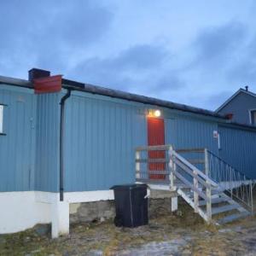
M 0 84 L 10 84 L 10 85 L 17 85 L 21 87 L 33 88 L 32 83 L 27 80 L 13 79 L 13 78 L 8 78 L 3 76 L 0 76 Z M 102 86 L 79 83 L 79 82 L 68 80 L 68 79 L 62 79 L 62 87 L 66 89 L 86 91 L 86 92 L 90 92 L 90 93 L 98 94 L 102 96 L 111 96 L 111 97 L 124 99 L 132 102 L 141 102 L 144 104 L 155 105 L 163 108 L 177 109 L 177 110 L 181 110 L 189 113 L 199 113 L 199 114 L 212 116 L 219 119 L 226 119 L 224 115 L 215 113 L 207 109 L 195 108 L 195 107 L 191 107 L 188 105 L 179 104 L 175 102 L 163 101 L 163 100 L 153 98 L 153 97 L 148 97 L 148 96 L 140 96 L 137 94 L 124 92 L 121 90 L 108 89 Z

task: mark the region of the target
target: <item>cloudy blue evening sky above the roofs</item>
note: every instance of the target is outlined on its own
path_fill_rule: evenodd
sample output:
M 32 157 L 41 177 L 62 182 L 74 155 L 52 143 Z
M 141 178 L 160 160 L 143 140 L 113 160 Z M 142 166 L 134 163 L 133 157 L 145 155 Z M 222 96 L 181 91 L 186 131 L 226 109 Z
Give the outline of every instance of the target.
M 215 109 L 256 92 L 256 1 L 0 2 L 0 74 L 66 79 Z

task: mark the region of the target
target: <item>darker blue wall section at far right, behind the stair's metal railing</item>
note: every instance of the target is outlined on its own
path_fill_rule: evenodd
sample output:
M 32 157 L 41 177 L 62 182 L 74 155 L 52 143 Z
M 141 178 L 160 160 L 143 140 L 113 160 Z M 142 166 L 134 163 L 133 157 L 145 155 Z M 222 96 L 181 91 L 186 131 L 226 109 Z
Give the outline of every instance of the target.
M 219 125 L 219 156 L 238 171 L 256 178 L 256 132 Z

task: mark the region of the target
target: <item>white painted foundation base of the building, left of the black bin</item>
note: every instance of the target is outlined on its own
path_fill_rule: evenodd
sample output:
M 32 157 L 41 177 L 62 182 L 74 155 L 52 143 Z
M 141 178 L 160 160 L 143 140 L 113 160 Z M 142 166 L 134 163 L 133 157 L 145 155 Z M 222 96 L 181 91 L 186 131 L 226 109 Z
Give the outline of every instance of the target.
M 0 234 L 52 224 L 52 237 L 69 233 L 69 204 L 113 200 L 113 190 L 59 193 L 42 191 L 0 192 Z

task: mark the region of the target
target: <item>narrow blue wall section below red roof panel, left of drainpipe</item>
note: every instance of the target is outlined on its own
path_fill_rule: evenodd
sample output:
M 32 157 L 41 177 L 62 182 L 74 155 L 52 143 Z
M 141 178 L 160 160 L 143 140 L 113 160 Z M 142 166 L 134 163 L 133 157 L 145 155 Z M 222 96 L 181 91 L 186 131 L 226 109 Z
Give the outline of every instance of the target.
M 60 93 L 38 95 L 35 190 L 59 190 Z

